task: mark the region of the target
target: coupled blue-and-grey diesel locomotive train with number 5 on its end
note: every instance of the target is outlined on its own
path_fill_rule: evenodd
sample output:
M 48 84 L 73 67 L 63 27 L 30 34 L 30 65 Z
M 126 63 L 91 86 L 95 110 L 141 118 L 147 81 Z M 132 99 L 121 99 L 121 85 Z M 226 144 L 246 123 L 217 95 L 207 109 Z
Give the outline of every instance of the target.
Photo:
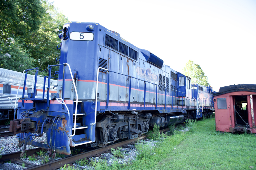
M 214 109 L 212 88 L 195 95 L 189 77 L 98 23 L 66 23 L 59 37 L 59 64 L 49 66 L 48 75 L 59 68 L 57 93 L 50 95 L 48 83 L 46 98 L 20 98 L 17 119 L 10 123 L 25 143 L 23 153 L 27 144 L 53 157 L 69 155 L 78 145 L 104 147 L 145 134 L 155 124 L 168 127 Z M 47 144 L 33 141 L 43 133 Z

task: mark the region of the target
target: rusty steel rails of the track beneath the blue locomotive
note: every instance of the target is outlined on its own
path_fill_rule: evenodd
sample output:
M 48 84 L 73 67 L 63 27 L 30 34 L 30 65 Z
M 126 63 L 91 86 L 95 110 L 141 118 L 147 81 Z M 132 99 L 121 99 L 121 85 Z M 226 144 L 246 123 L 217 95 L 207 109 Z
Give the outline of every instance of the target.
M 165 132 L 167 130 L 168 130 L 168 128 L 160 130 L 160 132 L 162 133 L 162 132 Z M 137 137 L 135 139 L 121 141 L 121 142 L 118 142 L 118 143 L 114 143 L 112 145 L 108 145 L 104 148 L 93 149 L 93 150 L 90 150 L 88 152 L 82 152 L 82 153 L 79 153 L 77 155 L 68 156 L 66 158 L 54 160 L 54 161 L 51 161 L 51 162 L 48 162 L 48 163 L 45 163 L 45 164 L 41 164 L 41 165 L 35 165 L 35 164 L 32 164 L 32 163 L 20 160 L 21 151 L 14 152 L 14 153 L 3 154 L 0 161 L 1 162 L 12 161 L 13 163 L 16 163 L 18 165 L 21 165 L 24 162 L 25 167 L 27 167 L 26 170 L 57 169 L 57 168 L 60 168 L 64 165 L 67 165 L 67 164 L 73 164 L 74 162 L 76 162 L 77 160 L 80 160 L 80 159 L 91 158 L 93 156 L 100 155 L 101 153 L 111 152 L 111 148 L 115 149 L 115 148 L 118 148 L 118 147 L 126 147 L 126 145 L 129 145 L 129 144 L 131 144 L 135 141 L 138 141 L 138 140 L 146 138 L 146 137 L 147 137 L 147 135 L 142 135 L 142 136 Z M 41 150 L 41 148 L 26 150 L 26 154 L 27 154 L 27 156 L 36 155 L 36 152 L 39 152 L 40 150 Z M 0 165 L 0 169 L 10 169 L 10 168 L 14 169 L 12 166 L 6 167 L 6 165 L 3 165 L 3 164 Z

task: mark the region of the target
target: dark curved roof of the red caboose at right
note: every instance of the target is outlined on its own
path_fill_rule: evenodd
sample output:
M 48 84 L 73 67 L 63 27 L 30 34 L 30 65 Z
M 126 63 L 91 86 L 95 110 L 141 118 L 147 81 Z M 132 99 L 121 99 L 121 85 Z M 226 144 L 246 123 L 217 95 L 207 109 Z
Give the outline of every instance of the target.
M 237 84 L 225 87 L 220 87 L 220 91 L 214 93 L 213 96 L 219 96 L 226 93 L 231 93 L 235 91 L 251 91 L 256 93 L 256 84 Z

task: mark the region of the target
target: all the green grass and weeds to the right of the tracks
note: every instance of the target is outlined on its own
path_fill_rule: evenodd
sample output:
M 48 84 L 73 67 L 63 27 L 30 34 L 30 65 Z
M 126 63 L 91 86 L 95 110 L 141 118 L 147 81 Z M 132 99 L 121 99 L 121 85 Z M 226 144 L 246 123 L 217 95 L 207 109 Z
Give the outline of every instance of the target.
M 138 143 L 137 158 L 128 164 L 120 164 L 116 158 L 111 166 L 105 160 L 91 161 L 89 165 L 92 169 L 124 170 L 256 169 L 254 134 L 216 132 L 214 117 L 187 122 L 176 129 L 171 126 L 158 141 L 155 146 Z

